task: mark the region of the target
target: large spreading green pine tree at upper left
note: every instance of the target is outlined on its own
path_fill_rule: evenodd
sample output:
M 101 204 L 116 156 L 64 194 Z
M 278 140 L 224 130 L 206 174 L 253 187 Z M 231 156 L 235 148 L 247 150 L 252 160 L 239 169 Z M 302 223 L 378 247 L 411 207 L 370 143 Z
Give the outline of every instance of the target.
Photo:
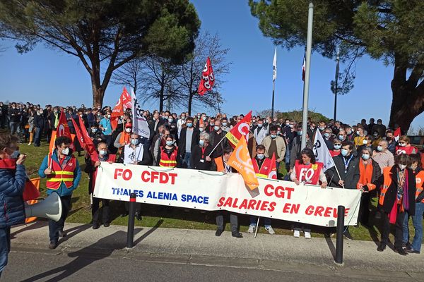
M 43 42 L 78 57 L 90 74 L 93 104 L 102 104 L 112 73 L 132 59 L 182 61 L 199 26 L 188 0 L 0 0 L 0 30 L 18 40 L 18 51 Z

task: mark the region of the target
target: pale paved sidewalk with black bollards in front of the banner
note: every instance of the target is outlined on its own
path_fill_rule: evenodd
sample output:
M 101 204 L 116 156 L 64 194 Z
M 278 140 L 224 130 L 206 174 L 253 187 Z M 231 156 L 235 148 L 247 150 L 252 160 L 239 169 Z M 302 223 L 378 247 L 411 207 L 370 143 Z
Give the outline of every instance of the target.
M 158 223 L 157 226 L 160 226 Z M 125 248 L 126 226 L 101 226 L 66 223 L 66 238 L 57 250 L 48 250 L 47 222 L 16 226 L 11 230 L 12 251 L 76 255 L 119 256 L 148 262 L 170 262 L 213 266 L 245 267 L 305 273 L 350 275 L 353 277 L 387 276 L 387 281 L 401 278 L 424 280 L 424 255 L 403 257 L 387 247 L 377 252 L 377 245 L 367 241 L 347 241 L 344 265 L 334 264 L 334 238 L 293 238 L 285 235 L 254 235 L 232 238 L 230 232 L 220 237 L 214 231 L 136 228 L 135 246 Z

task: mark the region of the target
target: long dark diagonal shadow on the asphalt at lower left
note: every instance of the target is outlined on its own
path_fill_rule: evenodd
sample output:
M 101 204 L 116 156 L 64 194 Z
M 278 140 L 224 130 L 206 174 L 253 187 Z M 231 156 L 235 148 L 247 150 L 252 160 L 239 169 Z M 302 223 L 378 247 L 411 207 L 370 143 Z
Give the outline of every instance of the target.
M 81 232 L 81 231 L 80 231 Z M 97 262 L 98 260 L 105 259 L 112 255 L 112 252 L 115 250 L 121 250 L 124 248 L 124 243 L 117 245 L 117 241 L 122 241 L 122 238 L 125 238 L 126 232 L 117 231 L 105 238 L 98 240 L 98 242 L 85 247 L 77 252 L 70 252 L 69 257 L 75 257 L 72 262 L 64 266 L 59 266 L 56 269 L 45 271 L 42 274 L 37 274 L 33 277 L 27 278 L 24 282 L 37 281 L 42 279 L 42 281 L 61 281 L 62 279 L 72 276 L 77 271 L 80 271 L 84 267 Z M 110 246 L 105 249 L 105 245 Z M 94 250 L 98 250 L 97 252 Z M 45 280 L 47 277 L 53 276 L 48 280 Z

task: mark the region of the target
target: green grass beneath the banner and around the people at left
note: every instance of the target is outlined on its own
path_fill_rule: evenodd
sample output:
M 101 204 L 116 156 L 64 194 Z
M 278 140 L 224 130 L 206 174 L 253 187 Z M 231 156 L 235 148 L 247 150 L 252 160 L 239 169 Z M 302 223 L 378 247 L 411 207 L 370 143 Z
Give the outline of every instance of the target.
M 42 162 L 42 159 L 47 155 L 48 145 L 45 140 L 43 140 L 41 147 L 27 146 L 26 144 L 20 145 L 20 152 L 28 154 L 28 158 L 25 161 L 25 166 L 30 178 L 38 177 L 38 168 Z M 76 155 L 76 154 L 75 154 Z M 81 165 L 84 165 L 83 157 L 78 157 L 78 161 Z M 45 195 L 45 179 L 42 179 L 40 183 L 40 190 L 42 196 Z M 377 201 L 373 199 L 373 206 L 377 204 Z M 111 219 L 112 224 L 126 226 L 128 217 L 120 217 L 119 215 L 124 212 L 124 203 L 119 201 L 111 201 Z M 184 212 L 184 209 L 177 207 L 165 207 L 153 204 L 143 204 L 142 205 L 142 220 L 136 221 L 136 226 L 160 226 L 166 228 L 188 228 L 188 229 L 206 229 L 206 230 L 215 230 L 215 213 L 206 212 L 202 214 L 199 210 L 190 209 L 189 212 Z M 228 219 L 227 219 L 228 220 Z M 82 173 L 81 182 L 78 188 L 73 192 L 72 196 L 72 209 L 69 213 L 67 222 L 73 223 L 90 223 L 91 221 L 91 210 L 90 210 L 90 196 L 88 195 L 88 175 L 87 173 Z M 370 216 L 370 221 L 374 226 L 379 226 L 379 223 L 374 219 L 373 212 Z M 240 231 L 246 232 L 249 226 L 249 216 L 240 215 L 239 216 Z M 410 221 L 410 230 L 411 236 L 413 236 L 413 227 L 411 226 Z M 273 228 L 277 234 L 281 235 L 291 235 L 291 223 L 288 221 L 273 220 Z M 230 224 L 227 224 L 226 229 L 230 230 Z M 319 226 L 312 227 L 312 236 L 322 237 L 321 233 L 325 231 L 326 228 Z M 379 228 L 365 228 L 360 226 L 355 228 L 351 226 L 349 228 L 353 238 L 358 240 L 376 240 L 379 238 Z M 266 233 L 264 228 L 259 229 L 259 233 Z M 393 238 L 391 238 L 393 242 Z

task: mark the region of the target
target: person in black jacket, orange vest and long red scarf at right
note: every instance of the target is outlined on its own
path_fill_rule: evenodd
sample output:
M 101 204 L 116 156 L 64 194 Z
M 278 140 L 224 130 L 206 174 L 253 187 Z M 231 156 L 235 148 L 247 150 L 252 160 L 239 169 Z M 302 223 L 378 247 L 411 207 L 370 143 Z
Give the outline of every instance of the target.
M 374 183 L 376 187 L 382 185 L 379 196 L 379 207 L 384 215 L 382 219 L 382 239 L 377 251 L 386 249 L 389 241 L 389 223 L 395 224 L 394 248 L 399 255 L 408 255 L 402 247 L 404 238 L 403 226 L 406 212 L 415 215 L 416 209 L 416 177 L 411 168 L 411 160 L 407 154 L 399 154 L 394 158 L 394 166 L 384 168 L 383 175 Z M 367 186 L 363 186 L 366 191 Z

